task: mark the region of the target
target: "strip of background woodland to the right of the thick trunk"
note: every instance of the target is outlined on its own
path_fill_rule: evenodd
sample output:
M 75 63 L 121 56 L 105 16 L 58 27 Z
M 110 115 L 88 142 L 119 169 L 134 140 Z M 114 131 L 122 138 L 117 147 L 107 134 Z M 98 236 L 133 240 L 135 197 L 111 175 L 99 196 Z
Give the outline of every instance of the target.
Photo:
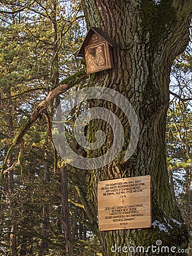
M 174 201 L 191 230 L 191 42 L 176 59 L 170 82 L 171 101 L 168 110 L 167 152 L 170 185 Z M 174 191 L 176 196 L 174 195 Z

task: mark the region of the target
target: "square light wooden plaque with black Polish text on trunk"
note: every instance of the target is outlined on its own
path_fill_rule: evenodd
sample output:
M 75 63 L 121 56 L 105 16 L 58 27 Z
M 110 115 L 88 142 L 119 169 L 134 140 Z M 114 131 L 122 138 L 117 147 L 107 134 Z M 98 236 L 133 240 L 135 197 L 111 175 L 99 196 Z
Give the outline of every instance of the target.
M 98 183 L 99 230 L 151 227 L 151 176 Z

